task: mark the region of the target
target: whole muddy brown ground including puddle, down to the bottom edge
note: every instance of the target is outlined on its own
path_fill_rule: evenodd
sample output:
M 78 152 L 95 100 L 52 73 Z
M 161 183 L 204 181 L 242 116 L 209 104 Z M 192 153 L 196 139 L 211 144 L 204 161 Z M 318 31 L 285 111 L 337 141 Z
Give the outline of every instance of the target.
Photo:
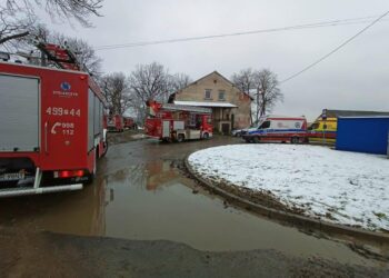
M 176 169 L 190 152 L 239 139 L 112 136 L 82 191 L 1 200 L 0 277 L 388 277 L 388 262 L 223 207 Z

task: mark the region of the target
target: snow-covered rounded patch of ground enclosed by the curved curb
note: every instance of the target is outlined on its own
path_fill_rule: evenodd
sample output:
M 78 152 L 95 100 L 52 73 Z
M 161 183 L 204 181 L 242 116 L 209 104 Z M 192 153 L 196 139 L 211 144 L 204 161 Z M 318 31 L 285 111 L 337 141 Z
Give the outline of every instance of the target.
M 206 178 L 270 190 L 330 222 L 389 230 L 389 159 L 303 145 L 232 145 L 192 153 Z

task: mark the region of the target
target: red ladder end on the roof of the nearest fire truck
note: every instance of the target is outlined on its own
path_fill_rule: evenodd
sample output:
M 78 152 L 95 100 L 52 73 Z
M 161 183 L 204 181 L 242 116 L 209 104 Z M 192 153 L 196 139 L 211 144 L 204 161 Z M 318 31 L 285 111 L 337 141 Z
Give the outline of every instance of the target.
M 42 51 L 49 61 L 54 62 L 59 68 L 67 70 L 81 70 L 81 66 L 76 54 L 67 47 L 60 47 L 53 43 L 37 42 L 37 48 Z

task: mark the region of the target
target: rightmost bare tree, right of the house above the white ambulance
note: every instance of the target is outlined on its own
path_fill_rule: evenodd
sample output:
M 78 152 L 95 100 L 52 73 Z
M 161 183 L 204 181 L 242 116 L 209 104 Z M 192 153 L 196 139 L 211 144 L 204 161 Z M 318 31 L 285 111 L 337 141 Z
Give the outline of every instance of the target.
M 283 100 L 277 75 L 269 69 L 255 72 L 256 120 L 270 112 L 278 101 Z

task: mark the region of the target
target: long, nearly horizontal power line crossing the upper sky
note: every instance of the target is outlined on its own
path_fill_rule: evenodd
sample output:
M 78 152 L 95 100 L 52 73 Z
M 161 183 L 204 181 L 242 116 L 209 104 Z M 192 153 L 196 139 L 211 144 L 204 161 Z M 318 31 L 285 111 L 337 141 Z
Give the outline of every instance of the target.
M 300 29 L 312 29 L 312 28 L 322 28 L 322 27 L 335 27 L 335 26 L 347 26 L 347 24 L 360 24 L 369 22 L 369 19 L 376 18 L 376 16 L 362 17 L 362 18 L 351 18 L 351 19 L 340 19 L 340 20 L 330 20 L 321 21 L 307 24 L 289 26 L 281 28 L 271 28 L 271 29 L 261 29 L 261 30 L 251 30 L 242 32 L 232 32 L 232 33 L 221 33 L 221 34 L 210 34 L 210 36 L 200 36 L 200 37 L 187 37 L 178 39 L 167 39 L 167 40 L 156 40 L 156 41 L 140 41 L 140 42 L 130 42 L 121 44 L 108 44 L 97 47 L 97 51 L 101 50 L 111 50 L 119 48 L 134 48 L 134 47 L 146 47 L 151 44 L 163 44 L 163 43 L 174 43 L 174 42 L 184 42 L 184 41 L 196 41 L 196 40 L 207 40 L 207 39 L 218 39 L 227 37 L 237 37 L 237 36 L 247 36 L 247 34 L 257 34 L 257 33 L 267 33 L 267 32 L 279 32 L 279 31 L 290 31 L 290 30 L 300 30 Z

